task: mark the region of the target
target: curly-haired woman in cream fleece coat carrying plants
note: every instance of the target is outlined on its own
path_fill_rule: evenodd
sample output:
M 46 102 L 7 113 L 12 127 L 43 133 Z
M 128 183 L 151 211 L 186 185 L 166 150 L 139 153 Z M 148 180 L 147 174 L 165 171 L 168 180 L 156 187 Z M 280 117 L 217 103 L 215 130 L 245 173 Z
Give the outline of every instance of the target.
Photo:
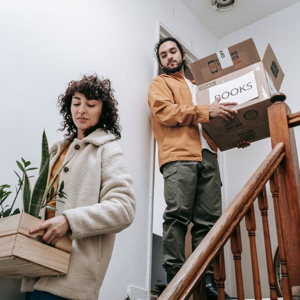
M 60 173 L 67 199 L 51 202 L 57 210 L 42 211 L 42 239 L 55 244 L 68 232 L 73 239 L 68 272 L 62 276 L 23 279 L 27 299 L 98 298 L 114 243 L 115 233 L 129 226 L 134 217 L 132 180 L 120 138 L 117 101 L 108 79 L 96 75 L 71 81 L 58 97 L 65 139 L 50 149 L 51 176 L 63 161 Z M 58 183 L 58 182 L 57 182 Z M 57 184 L 56 184 L 57 185 Z

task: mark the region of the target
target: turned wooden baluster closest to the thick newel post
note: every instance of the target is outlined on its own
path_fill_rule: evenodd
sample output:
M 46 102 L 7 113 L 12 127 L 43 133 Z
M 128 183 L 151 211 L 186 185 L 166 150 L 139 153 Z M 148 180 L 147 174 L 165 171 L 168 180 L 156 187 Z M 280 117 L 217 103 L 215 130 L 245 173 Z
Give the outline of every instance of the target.
M 281 263 L 282 295 L 284 300 L 292 300 L 291 285 L 290 285 L 290 280 L 288 278 L 287 267 L 286 267 L 285 248 L 284 248 L 284 240 L 283 240 L 282 227 L 281 227 L 280 209 L 278 203 L 278 185 L 274 174 L 270 177 L 269 182 L 270 182 L 270 190 L 274 202 L 276 231 L 277 231 L 277 239 L 278 239 L 279 257 Z

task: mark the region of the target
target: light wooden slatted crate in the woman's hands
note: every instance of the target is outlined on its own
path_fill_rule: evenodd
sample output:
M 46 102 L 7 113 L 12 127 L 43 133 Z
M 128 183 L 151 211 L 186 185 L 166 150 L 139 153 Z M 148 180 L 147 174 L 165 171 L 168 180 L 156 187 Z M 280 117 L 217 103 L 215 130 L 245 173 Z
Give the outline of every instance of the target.
M 0 276 L 11 278 L 41 277 L 66 274 L 72 240 L 67 235 L 54 246 L 38 240 L 44 230 L 29 230 L 42 224 L 27 213 L 0 219 Z

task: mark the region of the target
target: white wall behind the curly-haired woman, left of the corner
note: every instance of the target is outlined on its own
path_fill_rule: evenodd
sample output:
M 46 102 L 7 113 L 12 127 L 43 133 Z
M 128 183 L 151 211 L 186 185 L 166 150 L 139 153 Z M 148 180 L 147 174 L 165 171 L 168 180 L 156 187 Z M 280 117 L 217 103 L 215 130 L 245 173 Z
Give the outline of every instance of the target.
M 146 97 L 154 73 L 157 19 L 199 56 L 216 45 L 178 0 L 0 2 L 0 184 L 16 182 L 12 170 L 20 156 L 39 165 L 43 128 L 49 144 L 62 137 L 55 131 L 61 119 L 55 103 L 67 82 L 95 71 L 110 78 L 115 89 L 123 127 L 120 145 L 137 207 L 133 224 L 117 234 L 100 291 L 105 300 L 125 297 L 128 284 L 148 287 L 152 157 Z

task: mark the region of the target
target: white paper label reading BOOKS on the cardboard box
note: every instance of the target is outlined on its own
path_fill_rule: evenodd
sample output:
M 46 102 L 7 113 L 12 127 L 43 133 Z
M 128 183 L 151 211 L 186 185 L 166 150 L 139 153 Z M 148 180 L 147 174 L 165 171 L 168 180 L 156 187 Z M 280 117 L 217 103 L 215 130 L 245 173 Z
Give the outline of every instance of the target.
M 220 97 L 221 102 L 243 103 L 258 97 L 254 71 L 250 71 L 238 78 L 209 87 L 210 104 Z

